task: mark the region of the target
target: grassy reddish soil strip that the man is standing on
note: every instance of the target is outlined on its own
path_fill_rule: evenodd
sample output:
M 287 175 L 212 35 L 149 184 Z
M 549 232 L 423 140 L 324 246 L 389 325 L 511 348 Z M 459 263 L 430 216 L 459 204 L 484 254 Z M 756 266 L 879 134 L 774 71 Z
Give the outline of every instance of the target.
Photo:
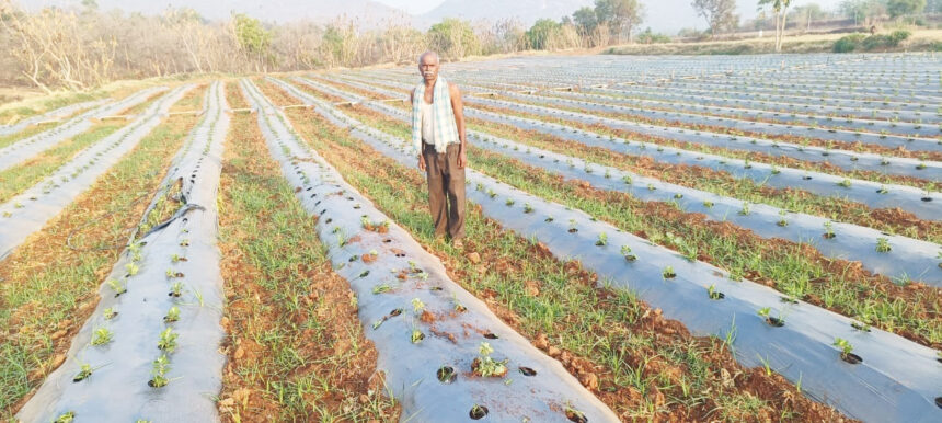
M 297 103 L 274 88 L 266 93 L 278 104 Z M 629 291 L 596 288 L 596 275 L 577 262 L 553 259 L 545 245 L 503 230 L 476 207 L 469 208 L 464 250 L 443 245 L 430 230 L 421 173 L 353 138 L 358 129 L 330 123 L 340 121 L 309 110 L 287 113 L 344 178 L 444 258 L 456 282 L 485 298 L 622 421 L 841 419 L 781 376 L 736 365 L 722 341 L 690 336 Z

